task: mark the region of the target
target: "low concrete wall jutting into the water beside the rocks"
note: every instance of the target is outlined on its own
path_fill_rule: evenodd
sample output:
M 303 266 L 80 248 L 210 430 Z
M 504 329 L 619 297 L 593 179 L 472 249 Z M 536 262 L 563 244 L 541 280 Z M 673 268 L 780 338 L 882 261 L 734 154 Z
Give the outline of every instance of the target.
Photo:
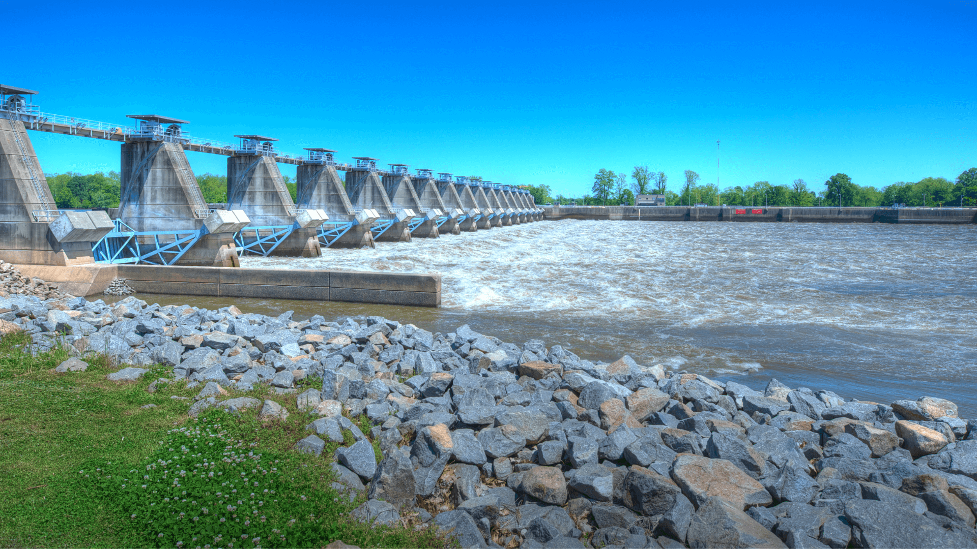
M 142 265 L 17 267 L 22 274 L 55 282 L 60 289 L 72 295 L 100 294 L 105 291 L 108 282 L 118 276 L 125 278 L 140 293 L 347 301 L 415 307 L 441 305 L 441 274 Z

